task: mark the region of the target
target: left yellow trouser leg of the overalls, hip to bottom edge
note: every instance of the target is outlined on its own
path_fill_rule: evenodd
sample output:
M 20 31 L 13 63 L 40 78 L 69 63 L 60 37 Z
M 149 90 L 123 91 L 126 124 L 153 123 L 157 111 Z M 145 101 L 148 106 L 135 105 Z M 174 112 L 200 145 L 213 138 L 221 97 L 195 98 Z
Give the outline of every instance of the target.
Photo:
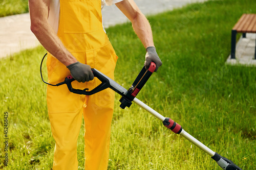
M 61 82 L 70 75 L 65 65 L 48 56 L 48 80 Z M 78 88 L 79 83 L 72 83 Z M 86 83 L 81 84 L 86 87 Z M 82 121 L 84 96 L 71 93 L 66 85 L 47 87 L 47 105 L 52 134 L 55 139 L 54 170 L 77 170 L 77 139 Z

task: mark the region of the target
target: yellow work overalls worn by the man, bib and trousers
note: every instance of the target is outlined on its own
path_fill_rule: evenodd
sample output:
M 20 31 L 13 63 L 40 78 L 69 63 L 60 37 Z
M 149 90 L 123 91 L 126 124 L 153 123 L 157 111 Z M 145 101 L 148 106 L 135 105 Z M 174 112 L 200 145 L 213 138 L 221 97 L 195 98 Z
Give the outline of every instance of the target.
M 60 0 L 58 37 L 76 59 L 114 79 L 115 51 L 102 28 L 100 0 Z M 69 69 L 51 54 L 47 58 L 48 82 L 59 83 Z M 74 88 L 90 90 L 101 82 L 72 82 Z M 47 86 L 47 104 L 55 139 L 53 169 L 78 169 L 77 139 L 84 117 L 85 168 L 107 169 L 114 91 L 94 95 L 71 93 L 66 85 Z

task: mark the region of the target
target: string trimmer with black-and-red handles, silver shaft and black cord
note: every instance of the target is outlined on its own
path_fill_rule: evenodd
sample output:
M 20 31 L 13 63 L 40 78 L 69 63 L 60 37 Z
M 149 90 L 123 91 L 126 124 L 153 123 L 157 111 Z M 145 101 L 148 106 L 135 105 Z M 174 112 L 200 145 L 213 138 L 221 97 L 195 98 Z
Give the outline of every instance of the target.
M 42 65 L 42 63 L 41 63 L 41 65 Z M 201 150 L 206 152 L 208 155 L 210 155 L 211 158 L 214 159 L 222 169 L 242 170 L 240 167 L 238 167 L 232 161 L 230 161 L 227 158 L 222 157 L 218 153 L 210 150 L 208 147 L 206 147 L 206 145 L 204 145 L 199 140 L 197 140 L 196 138 L 194 138 L 193 136 L 188 134 L 184 129 L 182 129 L 182 127 L 179 124 L 174 122 L 173 119 L 171 119 L 169 117 L 162 116 L 161 114 L 156 112 L 154 109 L 152 109 L 151 107 L 147 106 L 146 104 L 144 104 L 143 102 L 141 102 L 140 100 L 135 98 L 136 95 L 138 94 L 138 92 L 141 90 L 141 88 L 146 83 L 146 81 L 150 78 L 150 76 L 154 72 L 155 68 L 156 68 L 156 65 L 153 62 L 151 63 L 151 65 L 148 69 L 145 69 L 145 67 L 143 67 L 141 69 L 138 77 L 135 79 L 134 83 L 128 90 L 126 90 L 125 88 L 120 86 L 118 83 L 116 83 L 114 80 L 105 76 L 104 74 L 102 74 L 100 71 L 98 71 L 95 68 L 92 68 L 93 75 L 94 75 L 94 77 L 98 78 L 101 81 L 101 84 L 98 85 L 97 87 L 95 87 L 94 89 L 92 89 L 91 91 L 88 91 L 89 89 L 83 89 L 83 90 L 74 89 L 71 85 L 71 82 L 75 81 L 75 79 L 72 76 L 68 76 L 67 78 L 65 78 L 65 81 L 58 83 L 54 86 L 67 84 L 67 86 L 71 92 L 77 93 L 77 94 L 84 94 L 84 95 L 92 95 L 92 94 L 95 94 L 95 93 L 97 93 L 101 90 L 104 90 L 106 88 L 111 88 L 112 90 L 114 90 L 115 92 L 117 92 L 118 94 L 120 94 L 122 96 L 120 99 L 120 102 L 121 102 L 120 107 L 122 109 L 124 109 L 125 107 L 130 107 L 132 105 L 132 102 L 136 103 L 137 105 L 139 105 L 140 107 L 142 107 L 143 109 L 145 109 L 146 111 L 150 112 L 152 115 L 154 115 L 155 117 L 160 119 L 165 127 L 172 130 L 176 134 L 182 135 L 187 140 L 194 143 L 198 148 L 200 148 Z M 41 78 L 42 78 L 42 74 L 41 74 Z M 44 79 L 42 79 L 42 81 L 44 81 Z M 45 83 L 47 83 L 47 82 L 45 82 Z M 47 84 L 49 84 L 49 83 L 47 83 Z M 49 85 L 52 85 L 52 84 L 49 84 Z

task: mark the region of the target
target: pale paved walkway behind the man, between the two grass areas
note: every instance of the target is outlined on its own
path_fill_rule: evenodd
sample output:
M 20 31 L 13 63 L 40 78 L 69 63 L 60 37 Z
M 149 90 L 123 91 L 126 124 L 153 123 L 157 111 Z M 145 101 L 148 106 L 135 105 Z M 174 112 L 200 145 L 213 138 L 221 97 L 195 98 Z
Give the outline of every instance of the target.
M 135 0 L 145 15 L 173 10 L 189 3 L 203 1 L 207 0 Z M 115 5 L 104 7 L 102 16 L 105 28 L 127 21 L 126 17 Z M 34 34 L 30 31 L 28 13 L 0 18 L 0 37 L 0 58 L 39 44 Z

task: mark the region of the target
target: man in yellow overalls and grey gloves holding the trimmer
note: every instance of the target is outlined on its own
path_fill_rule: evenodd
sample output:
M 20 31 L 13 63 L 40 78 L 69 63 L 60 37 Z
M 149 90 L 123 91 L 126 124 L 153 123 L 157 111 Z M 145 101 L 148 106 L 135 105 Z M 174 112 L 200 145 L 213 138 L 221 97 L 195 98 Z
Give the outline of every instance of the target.
M 61 82 L 72 75 L 74 88 L 93 89 L 100 84 L 91 68 L 114 79 L 115 51 L 102 28 L 104 0 L 29 0 L 31 31 L 48 51 L 48 82 Z M 146 48 L 145 66 L 162 64 L 152 30 L 133 0 L 106 0 L 129 18 Z M 80 83 L 82 82 L 82 83 Z M 84 83 L 86 82 L 86 83 Z M 55 139 L 53 169 L 77 169 L 77 138 L 84 117 L 85 168 L 108 167 L 114 91 L 105 89 L 91 96 L 71 93 L 66 86 L 47 87 L 47 104 Z

